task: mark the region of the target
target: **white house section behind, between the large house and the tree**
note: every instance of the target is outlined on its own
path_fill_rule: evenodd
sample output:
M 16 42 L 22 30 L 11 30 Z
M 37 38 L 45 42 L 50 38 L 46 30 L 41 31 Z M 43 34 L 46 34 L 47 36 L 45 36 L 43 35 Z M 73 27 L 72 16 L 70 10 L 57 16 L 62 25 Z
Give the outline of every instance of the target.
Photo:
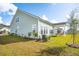
M 69 30 L 69 24 L 67 22 L 53 24 L 53 34 L 56 34 L 57 32 L 61 32 L 61 34 L 66 34 L 67 30 Z

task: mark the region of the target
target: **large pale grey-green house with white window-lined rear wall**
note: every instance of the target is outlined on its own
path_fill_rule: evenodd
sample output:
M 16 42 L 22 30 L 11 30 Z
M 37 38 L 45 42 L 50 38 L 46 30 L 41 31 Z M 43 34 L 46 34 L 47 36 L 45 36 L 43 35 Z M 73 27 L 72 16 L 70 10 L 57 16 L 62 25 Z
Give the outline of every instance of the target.
M 24 37 L 28 37 L 28 33 L 35 31 L 38 33 L 37 38 L 42 38 L 42 35 L 52 35 L 52 30 L 53 26 L 49 21 L 20 9 L 17 9 L 10 25 L 11 33 Z M 34 36 L 31 35 L 31 37 L 33 38 Z

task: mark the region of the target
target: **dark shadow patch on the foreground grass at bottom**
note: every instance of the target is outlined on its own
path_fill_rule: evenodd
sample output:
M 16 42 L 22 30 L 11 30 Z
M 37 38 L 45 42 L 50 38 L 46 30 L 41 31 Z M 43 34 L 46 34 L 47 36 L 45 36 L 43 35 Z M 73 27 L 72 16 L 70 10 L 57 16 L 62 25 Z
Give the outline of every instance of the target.
M 47 48 L 40 52 L 40 56 L 60 56 L 66 47 Z

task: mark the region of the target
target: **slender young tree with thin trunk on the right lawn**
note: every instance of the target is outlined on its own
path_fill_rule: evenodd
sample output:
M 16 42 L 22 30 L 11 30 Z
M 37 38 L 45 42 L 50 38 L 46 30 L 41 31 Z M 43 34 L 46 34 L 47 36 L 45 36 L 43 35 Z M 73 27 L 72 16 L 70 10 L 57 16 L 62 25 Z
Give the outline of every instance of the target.
M 77 34 L 77 24 L 78 24 L 78 18 L 75 15 L 76 15 L 76 10 L 73 10 L 71 12 L 70 19 L 69 19 L 69 25 L 72 33 L 73 44 L 75 44 L 75 38 Z

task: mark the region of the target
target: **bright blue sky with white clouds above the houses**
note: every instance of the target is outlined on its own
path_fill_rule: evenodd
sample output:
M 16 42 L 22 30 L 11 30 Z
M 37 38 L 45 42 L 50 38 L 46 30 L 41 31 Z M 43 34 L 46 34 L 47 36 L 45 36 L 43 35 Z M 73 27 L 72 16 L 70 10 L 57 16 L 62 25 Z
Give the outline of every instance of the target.
M 9 25 L 17 9 L 39 16 L 52 23 L 65 22 L 78 3 L 14 3 L 0 4 L 0 23 Z

